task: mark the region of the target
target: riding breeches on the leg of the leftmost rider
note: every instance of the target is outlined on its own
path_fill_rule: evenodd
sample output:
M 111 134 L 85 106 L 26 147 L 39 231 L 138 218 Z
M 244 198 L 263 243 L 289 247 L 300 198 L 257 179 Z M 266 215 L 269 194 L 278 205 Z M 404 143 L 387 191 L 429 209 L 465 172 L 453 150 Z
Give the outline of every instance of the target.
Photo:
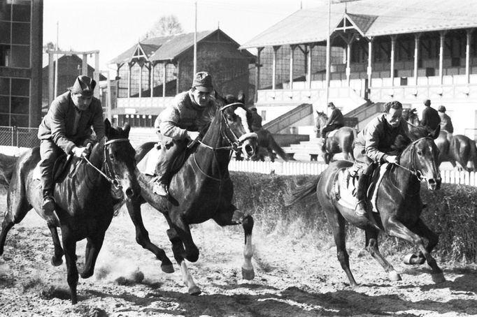
M 63 154 L 52 140 L 41 140 L 40 143 L 40 171 L 41 171 L 41 189 L 43 192 L 53 190 L 53 167 L 58 156 Z

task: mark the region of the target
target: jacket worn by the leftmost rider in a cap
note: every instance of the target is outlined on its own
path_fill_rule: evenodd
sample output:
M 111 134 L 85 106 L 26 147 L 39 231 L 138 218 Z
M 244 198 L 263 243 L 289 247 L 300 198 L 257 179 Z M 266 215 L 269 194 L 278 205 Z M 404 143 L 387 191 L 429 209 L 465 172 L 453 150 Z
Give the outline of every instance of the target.
M 71 100 L 70 91 L 55 98 L 38 127 L 38 138 L 52 140 L 65 153 L 69 153 L 73 146 L 91 138 L 91 127 L 97 135 L 97 140 L 104 138 L 103 108 L 98 98 L 93 97 L 87 110 L 80 112 L 78 128 L 73 134 L 75 112 L 76 106 Z

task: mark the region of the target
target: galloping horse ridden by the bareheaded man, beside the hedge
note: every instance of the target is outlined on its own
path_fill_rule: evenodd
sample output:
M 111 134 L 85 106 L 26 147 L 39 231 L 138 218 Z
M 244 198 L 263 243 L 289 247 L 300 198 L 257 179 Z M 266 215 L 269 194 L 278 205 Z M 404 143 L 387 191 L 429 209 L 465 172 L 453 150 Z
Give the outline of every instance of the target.
M 404 149 L 399 156 L 398 164 L 389 164 L 378 184 L 375 207 L 376 212 L 368 212 L 368 216 L 357 216 L 353 210 L 356 200 L 345 207 L 340 203 L 339 191 L 346 188 L 341 182 L 335 182 L 338 173 L 353 165 L 348 161 L 335 161 L 317 179 L 300 186 L 289 198 L 289 204 L 306 196 L 316 193 L 322 209 L 332 226 L 337 256 L 341 267 L 346 272 L 351 286 L 357 286 L 350 271 L 348 253 L 346 252 L 346 221 L 366 233 L 366 250 L 383 266 L 392 281 L 401 279 L 394 267 L 385 260 L 378 249 L 378 233 L 380 230 L 387 235 L 399 237 L 418 246 L 418 255 L 409 255 L 405 263 L 422 264 L 427 261 L 431 267 L 432 279 L 439 283 L 445 281 L 443 272 L 432 258 L 431 251 L 439 238 L 420 218 L 422 202 L 420 200 L 420 181 L 425 179 L 429 190 L 438 189 L 441 176 L 437 168 L 437 147 L 432 138 L 418 138 Z M 383 170 L 383 169 L 381 169 Z M 369 220 L 371 219 L 371 220 Z M 428 243 L 425 246 L 425 240 Z

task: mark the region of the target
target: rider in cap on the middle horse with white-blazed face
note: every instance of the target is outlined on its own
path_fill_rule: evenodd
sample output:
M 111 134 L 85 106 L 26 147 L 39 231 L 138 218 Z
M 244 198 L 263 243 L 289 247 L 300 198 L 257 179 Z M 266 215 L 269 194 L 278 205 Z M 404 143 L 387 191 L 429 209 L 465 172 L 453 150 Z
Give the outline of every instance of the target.
M 211 121 L 215 103 L 211 99 L 212 77 L 202 71 L 195 75 L 192 88 L 178 94 L 155 121 L 159 135 L 159 161 L 157 179 L 153 191 L 159 196 L 168 196 L 171 166 L 175 158 L 185 150 L 190 140 L 196 140 L 199 129 Z

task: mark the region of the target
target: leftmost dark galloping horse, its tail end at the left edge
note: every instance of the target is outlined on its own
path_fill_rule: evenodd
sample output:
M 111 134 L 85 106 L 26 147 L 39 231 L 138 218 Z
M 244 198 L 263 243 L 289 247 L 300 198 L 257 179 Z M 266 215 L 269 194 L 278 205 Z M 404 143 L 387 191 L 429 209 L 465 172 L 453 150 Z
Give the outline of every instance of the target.
M 8 183 L 7 210 L 0 234 L 0 255 L 3 253 L 6 235 L 33 207 L 48 223 L 55 245 L 51 263 L 62 264 L 66 259 L 67 281 L 71 290 L 71 302 L 76 304 L 78 269 L 76 267 L 76 242 L 87 239 L 85 265 L 80 273 L 83 279 L 91 277 L 106 229 L 113 219 L 113 207 L 122 196 L 133 199 L 141 191 L 134 174 L 133 147 L 127 139 L 129 125 L 112 128 L 106 119 L 106 137 L 92 148 L 90 163 L 73 157 L 68 175 L 55 185 L 55 214 L 45 216 L 41 209 L 43 200 L 40 181 L 34 179 L 34 169 L 40 161 L 39 147 L 24 152 L 14 165 L 4 171 L 3 183 Z M 5 161 L 8 157 L 1 157 Z M 10 159 L 10 161 L 13 161 Z M 5 166 L 3 166 L 5 167 Z M 121 189 L 122 193 L 120 193 Z M 57 227 L 62 230 L 62 245 Z

